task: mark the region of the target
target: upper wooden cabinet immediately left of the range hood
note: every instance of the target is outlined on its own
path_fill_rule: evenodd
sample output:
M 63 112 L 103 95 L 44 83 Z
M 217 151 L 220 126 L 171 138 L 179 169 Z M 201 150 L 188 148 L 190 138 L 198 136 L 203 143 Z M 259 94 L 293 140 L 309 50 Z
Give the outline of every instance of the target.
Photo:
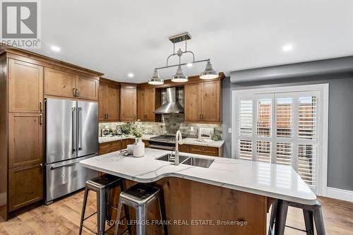
M 155 88 L 140 88 L 137 91 L 137 119 L 141 121 L 160 121 L 161 115 L 154 111 L 160 107 L 160 90 Z

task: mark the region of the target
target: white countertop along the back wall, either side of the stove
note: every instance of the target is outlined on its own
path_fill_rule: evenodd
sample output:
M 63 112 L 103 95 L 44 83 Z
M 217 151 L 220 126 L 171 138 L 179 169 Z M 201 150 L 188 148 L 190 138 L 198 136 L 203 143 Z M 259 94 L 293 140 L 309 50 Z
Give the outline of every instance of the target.
M 143 140 L 150 140 L 150 138 L 155 137 L 157 135 L 142 135 Z M 124 140 L 128 138 L 135 138 L 133 135 L 121 135 L 121 136 L 109 136 L 109 137 L 99 137 L 99 143 L 107 143 L 115 140 Z M 223 140 L 204 142 L 202 140 L 198 140 L 197 138 L 184 138 L 183 143 L 186 145 L 201 145 L 201 146 L 210 146 L 210 147 L 222 147 L 225 143 Z

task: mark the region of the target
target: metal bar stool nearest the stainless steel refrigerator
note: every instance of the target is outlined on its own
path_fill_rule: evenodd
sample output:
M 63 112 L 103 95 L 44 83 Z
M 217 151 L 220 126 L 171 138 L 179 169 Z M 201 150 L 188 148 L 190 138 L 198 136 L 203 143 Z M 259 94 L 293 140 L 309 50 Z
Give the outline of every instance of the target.
M 118 186 L 121 192 L 124 191 L 123 179 L 109 174 L 104 174 L 102 176 L 86 181 L 85 195 L 83 198 L 82 214 L 80 219 L 80 231 L 78 232 L 79 235 L 82 233 L 83 227 L 92 231 L 92 233 L 94 234 L 98 234 L 98 235 L 104 234 L 105 221 L 111 219 L 111 215 L 112 215 L 112 213 L 110 212 L 110 209 L 114 208 L 117 210 L 117 207 L 114 207 L 114 205 L 112 205 L 112 203 L 109 200 L 110 191 L 111 189 L 116 188 Z M 85 217 L 85 208 L 87 205 L 88 191 L 95 191 L 97 193 L 97 212 L 94 212 L 92 215 Z M 128 224 L 128 222 L 130 221 L 130 217 L 128 215 L 128 207 L 124 207 L 124 212 L 125 212 L 125 216 L 122 219 L 124 218 L 126 219 L 127 228 L 121 234 L 124 234 L 126 231 L 128 231 L 128 234 L 131 235 L 131 225 Z M 83 224 L 85 219 L 88 219 L 95 214 L 97 214 L 97 232 L 93 231 L 90 227 L 87 227 L 85 226 L 85 224 Z M 116 227 L 119 227 L 119 224 L 114 224 L 114 225 Z M 109 227 L 109 229 L 112 229 L 114 225 Z

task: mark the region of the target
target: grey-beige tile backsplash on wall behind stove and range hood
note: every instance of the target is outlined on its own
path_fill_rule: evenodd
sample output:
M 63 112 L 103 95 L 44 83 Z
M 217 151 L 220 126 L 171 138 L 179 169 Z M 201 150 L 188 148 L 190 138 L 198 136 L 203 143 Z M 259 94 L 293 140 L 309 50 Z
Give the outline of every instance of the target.
M 179 103 L 184 106 L 184 89 L 179 88 Z M 162 103 L 166 102 L 166 90 L 162 90 Z M 113 130 L 116 126 L 123 125 L 122 122 L 100 123 L 100 135 L 102 128 L 108 126 Z M 222 135 L 222 125 L 220 124 L 204 124 L 204 123 L 184 123 L 184 114 L 162 114 L 161 122 L 142 122 L 141 125 L 148 135 L 175 135 L 178 130 L 186 137 L 197 138 L 198 128 L 208 127 L 215 128 L 215 133 Z M 191 131 L 191 127 L 193 131 Z

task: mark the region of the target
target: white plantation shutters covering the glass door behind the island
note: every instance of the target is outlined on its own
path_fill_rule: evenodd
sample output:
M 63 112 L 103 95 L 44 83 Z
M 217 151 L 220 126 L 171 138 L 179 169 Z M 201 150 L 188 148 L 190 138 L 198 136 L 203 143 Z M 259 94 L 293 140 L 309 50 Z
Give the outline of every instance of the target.
M 315 189 L 319 92 L 235 94 L 236 158 L 292 166 Z

